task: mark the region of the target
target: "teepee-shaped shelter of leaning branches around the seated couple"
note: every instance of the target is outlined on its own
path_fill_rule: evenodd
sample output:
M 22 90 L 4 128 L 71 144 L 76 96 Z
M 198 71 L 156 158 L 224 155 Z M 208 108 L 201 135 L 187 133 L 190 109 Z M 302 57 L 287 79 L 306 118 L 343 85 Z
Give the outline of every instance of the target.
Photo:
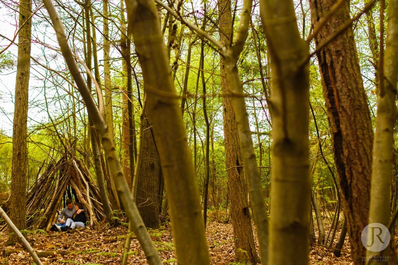
M 64 155 L 50 163 L 26 196 L 27 227 L 49 230 L 56 222 L 66 198 L 84 205 L 91 225 L 100 228 L 104 218 L 99 188 L 87 167 L 76 158 Z M 61 204 L 61 202 L 64 202 Z

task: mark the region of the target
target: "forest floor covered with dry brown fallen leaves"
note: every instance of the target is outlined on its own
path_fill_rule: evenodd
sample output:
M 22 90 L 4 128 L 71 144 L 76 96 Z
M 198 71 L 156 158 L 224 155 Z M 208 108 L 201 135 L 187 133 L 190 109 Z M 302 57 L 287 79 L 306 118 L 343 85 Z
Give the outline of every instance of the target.
M 212 218 L 207 223 L 206 236 L 210 250 L 211 264 L 228 265 L 234 262 L 232 225 L 219 223 Z M 50 231 L 45 233 L 37 230 L 28 234 L 28 241 L 40 257 L 43 264 L 91 264 L 113 265 L 120 264 L 127 228 L 123 225 L 103 230 L 91 227 L 75 229 L 73 233 Z M 176 253 L 171 236 L 170 226 L 151 230 L 149 234 L 158 249 L 164 264 L 177 264 Z M 336 235 L 335 241 L 338 240 Z M 20 244 L 6 246 L 8 232 L 0 232 L 0 264 L 19 265 L 33 264 L 29 254 Z M 257 245 L 258 249 L 258 245 Z M 128 264 L 147 264 L 137 238 L 133 236 L 131 255 Z M 351 265 L 352 259 L 349 243 L 346 240 L 341 257 L 336 258 L 333 250 L 319 245 L 313 245 L 309 254 L 311 265 Z

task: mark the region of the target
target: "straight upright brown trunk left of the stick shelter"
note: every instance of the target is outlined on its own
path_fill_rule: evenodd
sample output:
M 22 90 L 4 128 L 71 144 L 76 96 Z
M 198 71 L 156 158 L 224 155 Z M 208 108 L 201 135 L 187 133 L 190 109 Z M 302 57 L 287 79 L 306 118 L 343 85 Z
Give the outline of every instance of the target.
M 26 228 L 27 117 L 30 76 L 31 0 L 19 3 L 18 60 L 16 66 L 15 107 L 12 132 L 11 220 Z

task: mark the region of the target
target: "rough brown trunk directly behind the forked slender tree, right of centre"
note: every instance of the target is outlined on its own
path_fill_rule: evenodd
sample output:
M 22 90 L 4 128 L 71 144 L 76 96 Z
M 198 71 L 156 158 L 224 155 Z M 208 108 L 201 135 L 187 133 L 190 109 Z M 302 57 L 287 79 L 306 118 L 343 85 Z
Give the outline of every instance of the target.
M 231 1 L 218 1 L 220 42 L 228 47 L 231 44 L 232 16 Z M 254 244 L 253 229 L 247 198 L 247 184 L 243 169 L 243 158 L 240 150 L 238 127 L 235 112 L 232 105 L 232 97 L 229 91 L 226 77 L 225 62 L 221 56 L 220 66 L 221 93 L 223 106 L 223 128 L 225 141 L 225 164 L 228 176 L 228 194 L 230 199 L 229 212 L 232 219 L 235 244 L 235 261 L 250 262 L 257 261 L 256 248 Z M 243 251 L 240 251 L 243 250 Z

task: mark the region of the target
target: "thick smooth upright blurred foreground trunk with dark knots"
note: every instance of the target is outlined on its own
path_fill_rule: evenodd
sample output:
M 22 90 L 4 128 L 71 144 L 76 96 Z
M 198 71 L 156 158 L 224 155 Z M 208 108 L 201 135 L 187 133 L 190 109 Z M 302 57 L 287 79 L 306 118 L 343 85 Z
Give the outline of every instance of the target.
M 270 265 L 308 264 L 309 71 L 292 0 L 261 0 L 260 14 L 271 58 L 272 190 Z M 291 18 L 287 20 L 286 18 Z M 275 23 L 274 21 L 284 21 Z

